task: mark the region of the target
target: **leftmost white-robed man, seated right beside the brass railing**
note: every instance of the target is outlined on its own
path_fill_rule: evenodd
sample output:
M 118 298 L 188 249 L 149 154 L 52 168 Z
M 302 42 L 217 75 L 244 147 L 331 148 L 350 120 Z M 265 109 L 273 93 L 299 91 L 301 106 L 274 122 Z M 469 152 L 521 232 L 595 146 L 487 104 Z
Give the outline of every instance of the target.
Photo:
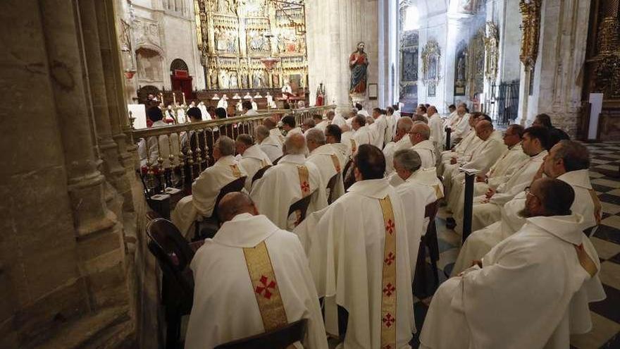
M 234 154 L 235 141 L 220 136 L 213 145 L 213 159 L 216 163 L 204 169 L 194 180 L 192 195 L 183 197 L 177 203 L 171 219 L 185 237 L 189 237 L 194 221 L 211 216 L 220 190 L 225 185 L 247 176 Z

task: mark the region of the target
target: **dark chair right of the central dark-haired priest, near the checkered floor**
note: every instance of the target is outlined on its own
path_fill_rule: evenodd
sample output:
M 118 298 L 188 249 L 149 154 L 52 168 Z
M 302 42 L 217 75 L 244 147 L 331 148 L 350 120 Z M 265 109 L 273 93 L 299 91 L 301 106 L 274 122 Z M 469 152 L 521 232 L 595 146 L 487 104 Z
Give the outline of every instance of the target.
M 439 269 L 437 262 L 439 260 L 439 242 L 437 238 L 437 226 L 435 226 L 435 216 L 439 210 L 439 201 L 435 201 L 426 205 L 424 212 L 424 218 L 428 218 L 428 227 L 426 227 L 426 233 L 422 236 L 420 242 L 420 250 L 418 253 L 418 260 L 416 262 L 416 274 L 414 278 L 414 285 L 419 283 L 422 289 L 426 292 L 428 290 L 427 277 L 426 277 L 426 248 L 428 247 L 428 255 L 430 257 L 430 265 L 433 269 L 433 276 L 435 277 L 434 287 L 439 286 Z

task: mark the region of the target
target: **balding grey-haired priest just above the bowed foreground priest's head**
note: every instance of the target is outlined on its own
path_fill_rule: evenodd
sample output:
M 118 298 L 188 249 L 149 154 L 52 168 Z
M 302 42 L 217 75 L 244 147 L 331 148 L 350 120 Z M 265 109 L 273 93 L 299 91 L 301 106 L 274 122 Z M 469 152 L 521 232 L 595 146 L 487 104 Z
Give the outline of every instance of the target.
M 252 200 L 259 212 L 267 216 L 276 226 L 292 229 L 301 221 L 300 213 L 289 216 L 292 204 L 311 195 L 306 214 L 327 206 L 325 185 L 321 171 L 311 162 L 306 162 L 306 140 L 301 133 L 287 136 L 284 143 L 285 156 L 272 166 L 252 186 Z

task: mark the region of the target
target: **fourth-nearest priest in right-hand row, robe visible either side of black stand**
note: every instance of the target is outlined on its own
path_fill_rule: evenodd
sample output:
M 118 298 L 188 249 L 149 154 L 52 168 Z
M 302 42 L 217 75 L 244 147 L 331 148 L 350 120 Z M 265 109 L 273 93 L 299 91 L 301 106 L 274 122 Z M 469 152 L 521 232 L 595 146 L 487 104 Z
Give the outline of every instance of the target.
M 473 183 L 474 197 L 485 194 L 489 188 L 497 190 L 497 187 L 506 183 L 514 171 L 519 169 L 519 165 L 528 158 L 521 147 L 523 130 L 523 126 L 517 124 L 507 128 L 504 133 L 504 145 L 508 149 L 504 150 L 504 154 L 495 161 L 487 173 L 480 173 L 476 176 L 476 181 Z M 459 224 L 458 221 L 462 220 L 465 202 L 465 176 L 461 173 L 460 177 L 461 180 L 456 180 L 456 178 L 452 180 L 452 190 L 447 200 L 447 208 L 452 211 L 457 226 L 462 226 L 462 223 Z

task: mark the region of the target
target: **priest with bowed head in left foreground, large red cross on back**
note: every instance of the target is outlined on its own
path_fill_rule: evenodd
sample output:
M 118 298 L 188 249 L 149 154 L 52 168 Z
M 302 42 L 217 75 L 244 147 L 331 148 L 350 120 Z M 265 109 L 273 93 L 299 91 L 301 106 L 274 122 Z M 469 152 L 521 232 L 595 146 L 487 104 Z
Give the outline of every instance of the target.
M 297 236 L 259 215 L 240 192 L 225 195 L 218 214 L 225 223 L 190 264 L 194 305 L 185 348 L 213 348 L 307 319 L 296 347 L 327 349 L 316 288 Z

